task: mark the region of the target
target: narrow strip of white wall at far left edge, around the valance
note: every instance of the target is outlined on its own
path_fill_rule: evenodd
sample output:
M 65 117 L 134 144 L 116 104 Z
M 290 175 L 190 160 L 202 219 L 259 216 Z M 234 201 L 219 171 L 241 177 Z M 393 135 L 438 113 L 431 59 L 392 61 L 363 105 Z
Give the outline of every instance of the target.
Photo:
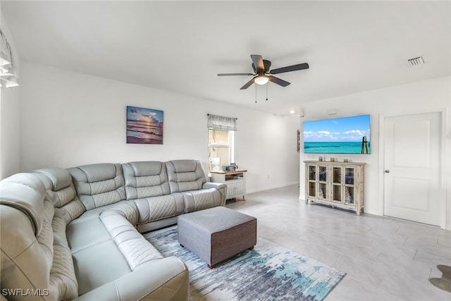
M 13 51 L 13 58 L 16 70 L 20 78 L 20 58 L 11 36 L 5 18 L 1 16 L 1 30 L 8 39 Z M 18 173 L 20 169 L 19 130 L 19 87 L 0 88 L 0 179 Z

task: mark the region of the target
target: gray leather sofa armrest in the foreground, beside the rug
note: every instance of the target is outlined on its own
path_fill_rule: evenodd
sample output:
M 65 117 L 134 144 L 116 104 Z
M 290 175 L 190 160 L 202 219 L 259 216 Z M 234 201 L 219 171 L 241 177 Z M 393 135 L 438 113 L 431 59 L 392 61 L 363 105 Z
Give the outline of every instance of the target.
M 156 259 L 74 299 L 105 300 L 188 300 L 190 277 L 188 268 L 177 257 Z

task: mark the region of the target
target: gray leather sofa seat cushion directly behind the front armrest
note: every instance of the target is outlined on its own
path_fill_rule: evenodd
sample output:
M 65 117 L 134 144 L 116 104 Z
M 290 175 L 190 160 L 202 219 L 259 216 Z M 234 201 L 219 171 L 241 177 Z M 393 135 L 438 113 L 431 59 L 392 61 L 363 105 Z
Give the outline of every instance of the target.
M 82 216 L 68 224 L 66 233 L 79 295 L 163 258 L 116 209 Z

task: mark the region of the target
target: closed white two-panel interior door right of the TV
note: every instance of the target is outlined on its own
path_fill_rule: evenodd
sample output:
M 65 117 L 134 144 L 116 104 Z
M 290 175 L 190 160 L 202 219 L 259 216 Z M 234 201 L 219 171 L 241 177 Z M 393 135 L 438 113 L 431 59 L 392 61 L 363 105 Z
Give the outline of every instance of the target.
M 440 226 L 441 114 L 386 117 L 384 215 Z

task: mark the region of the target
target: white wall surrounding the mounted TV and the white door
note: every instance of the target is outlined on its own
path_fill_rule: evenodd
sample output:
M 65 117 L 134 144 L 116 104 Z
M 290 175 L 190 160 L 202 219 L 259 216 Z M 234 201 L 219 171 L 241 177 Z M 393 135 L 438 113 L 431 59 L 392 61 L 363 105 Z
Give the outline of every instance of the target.
M 335 118 L 342 116 L 354 116 L 371 114 L 371 154 L 370 155 L 333 155 L 342 161 L 349 158 L 352 161 L 365 162 L 365 187 L 364 210 L 369 214 L 383 214 L 381 208 L 381 193 L 379 186 L 380 174 L 383 168 L 379 158 L 379 118 L 381 116 L 397 116 L 409 113 L 421 113 L 424 111 L 445 110 L 445 161 L 443 166 L 447 179 L 444 180 L 447 187 L 447 222 L 446 227 L 451 229 L 451 77 L 437 78 L 413 82 L 407 85 L 388 87 L 343 97 L 323 99 L 318 102 L 303 104 L 304 118 L 302 121 L 311 121 L 321 118 Z M 328 110 L 336 109 L 338 114 L 329 116 Z M 327 159 L 331 155 L 326 156 Z M 317 159 L 318 155 L 300 154 L 300 182 L 304 183 L 304 160 Z M 304 199 L 305 188 L 300 185 L 300 199 Z

